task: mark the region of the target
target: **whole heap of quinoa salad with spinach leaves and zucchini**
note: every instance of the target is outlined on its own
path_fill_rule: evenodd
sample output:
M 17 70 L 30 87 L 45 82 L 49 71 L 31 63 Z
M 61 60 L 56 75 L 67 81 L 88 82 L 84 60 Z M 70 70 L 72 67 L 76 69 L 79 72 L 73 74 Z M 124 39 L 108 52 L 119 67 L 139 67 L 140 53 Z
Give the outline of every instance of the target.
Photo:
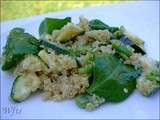
M 145 43 L 124 26 L 83 16 L 45 18 L 39 38 L 13 28 L 2 54 L 2 70 L 12 72 L 11 101 L 40 92 L 43 100 L 74 99 L 94 110 L 126 100 L 135 89 L 152 96 L 160 89 L 160 62 L 147 56 Z

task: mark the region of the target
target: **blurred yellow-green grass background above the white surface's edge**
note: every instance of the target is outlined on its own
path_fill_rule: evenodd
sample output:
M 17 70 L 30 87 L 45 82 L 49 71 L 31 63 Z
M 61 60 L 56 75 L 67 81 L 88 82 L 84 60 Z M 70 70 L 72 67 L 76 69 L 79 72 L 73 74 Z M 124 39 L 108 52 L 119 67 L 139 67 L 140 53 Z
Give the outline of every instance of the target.
M 1 21 L 73 8 L 120 3 L 122 0 L 74 1 L 1 1 Z M 124 1 L 123 1 L 124 2 Z

